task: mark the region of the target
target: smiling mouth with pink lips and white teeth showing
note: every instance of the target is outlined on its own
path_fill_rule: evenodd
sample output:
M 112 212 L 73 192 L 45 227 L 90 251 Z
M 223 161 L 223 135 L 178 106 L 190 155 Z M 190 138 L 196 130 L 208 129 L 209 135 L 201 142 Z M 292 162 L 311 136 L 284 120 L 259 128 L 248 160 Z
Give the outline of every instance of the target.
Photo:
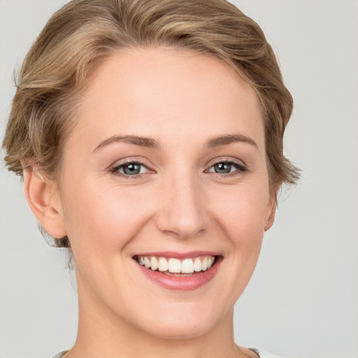
M 176 257 L 173 257 L 176 256 Z M 209 282 L 218 270 L 220 255 L 134 255 L 141 271 L 167 289 L 196 289 Z

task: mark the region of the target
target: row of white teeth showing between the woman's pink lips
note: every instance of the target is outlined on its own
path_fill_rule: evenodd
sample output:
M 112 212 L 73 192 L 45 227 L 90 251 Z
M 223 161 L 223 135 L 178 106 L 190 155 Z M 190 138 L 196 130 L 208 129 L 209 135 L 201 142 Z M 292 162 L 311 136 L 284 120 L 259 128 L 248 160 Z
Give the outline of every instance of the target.
M 183 259 L 174 259 L 170 258 L 167 260 L 165 257 L 155 257 L 155 256 L 137 256 L 136 260 L 141 266 L 150 268 L 152 271 L 161 271 L 165 273 L 194 273 L 200 271 L 206 271 L 215 262 L 214 256 L 201 256 L 195 258 Z

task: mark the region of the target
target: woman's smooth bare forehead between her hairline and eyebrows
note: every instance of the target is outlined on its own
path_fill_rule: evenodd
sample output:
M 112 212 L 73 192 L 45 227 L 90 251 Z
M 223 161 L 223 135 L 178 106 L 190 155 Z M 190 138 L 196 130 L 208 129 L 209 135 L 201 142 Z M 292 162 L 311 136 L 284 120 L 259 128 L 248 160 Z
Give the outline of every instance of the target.
M 74 134 L 98 142 L 118 134 L 173 141 L 240 132 L 264 143 L 255 90 L 224 61 L 148 48 L 101 63 L 87 85 Z M 71 140 L 71 138 L 70 138 Z

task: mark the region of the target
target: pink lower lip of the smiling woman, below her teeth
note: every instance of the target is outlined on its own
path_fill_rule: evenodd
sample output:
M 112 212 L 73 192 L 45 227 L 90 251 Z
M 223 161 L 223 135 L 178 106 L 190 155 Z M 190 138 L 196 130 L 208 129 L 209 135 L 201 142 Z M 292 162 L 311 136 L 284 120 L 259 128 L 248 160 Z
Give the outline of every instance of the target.
M 145 274 L 147 278 L 157 283 L 158 285 L 165 287 L 166 289 L 176 289 L 181 291 L 189 291 L 197 289 L 206 283 L 208 283 L 217 273 L 219 269 L 221 259 L 217 258 L 215 264 L 206 271 L 200 273 L 194 273 L 189 276 L 171 276 L 161 273 L 160 271 L 152 271 L 150 268 L 145 268 L 136 262 L 138 268 Z

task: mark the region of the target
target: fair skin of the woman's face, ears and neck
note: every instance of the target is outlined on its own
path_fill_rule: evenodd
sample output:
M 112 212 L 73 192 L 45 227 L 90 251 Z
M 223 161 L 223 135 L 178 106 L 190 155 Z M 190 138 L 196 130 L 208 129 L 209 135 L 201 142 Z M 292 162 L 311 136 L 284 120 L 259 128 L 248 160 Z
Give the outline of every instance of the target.
M 255 145 L 206 147 L 233 134 Z M 124 135 L 153 138 L 159 148 L 101 145 Z M 140 175 L 112 170 L 128 160 L 144 164 Z M 232 164 L 216 173 L 225 161 L 245 170 Z M 31 209 L 50 235 L 69 236 L 76 261 L 78 338 L 66 358 L 257 357 L 235 345 L 232 320 L 275 197 L 259 100 L 231 67 L 168 48 L 107 59 L 85 91 L 60 183 L 34 168 L 24 173 Z M 210 250 L 223 259 L 206 285 L 169 290 L 133 259 L 163 250 Z

